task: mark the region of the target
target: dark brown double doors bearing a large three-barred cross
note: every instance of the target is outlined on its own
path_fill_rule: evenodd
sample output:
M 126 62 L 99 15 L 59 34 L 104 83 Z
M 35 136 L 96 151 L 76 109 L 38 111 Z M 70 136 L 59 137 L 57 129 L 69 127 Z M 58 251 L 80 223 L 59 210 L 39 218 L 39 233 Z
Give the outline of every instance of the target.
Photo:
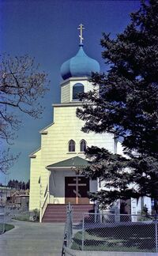
M 81 176 L 65 177 L 65 203 L 89 204 L 89 179 Z

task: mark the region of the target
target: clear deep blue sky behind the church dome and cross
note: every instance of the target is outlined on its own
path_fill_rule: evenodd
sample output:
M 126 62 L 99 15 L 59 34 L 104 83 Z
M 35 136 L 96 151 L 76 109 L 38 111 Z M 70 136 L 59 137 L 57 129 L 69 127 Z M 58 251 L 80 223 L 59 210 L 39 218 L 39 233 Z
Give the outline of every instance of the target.
M 45 107 L 42 119 L 31 119 L 19 113 L 23 124 L 12 146 L 21 152 L 19 160 L 8 175 L 0 174 L 0 182 L 9 179 L 29 179 L 28 155 L 40 148 L 39 130 L 52 122 L 51 104 L 60 102 L 60 67 L 76 55 L 79 37 L 78 25 L 84 24 L 86 54 L 100 62 L 100 38 L 103 32 L 117 33 L 130 22 L 129 14 L 139 9 L 140 2 L 133 0 L 1 0 L 0 1 L 0 51 L 10 55 L 28 54 L 36 58 L 41 69 L 51 80 L 50 91 L 41 100 Z

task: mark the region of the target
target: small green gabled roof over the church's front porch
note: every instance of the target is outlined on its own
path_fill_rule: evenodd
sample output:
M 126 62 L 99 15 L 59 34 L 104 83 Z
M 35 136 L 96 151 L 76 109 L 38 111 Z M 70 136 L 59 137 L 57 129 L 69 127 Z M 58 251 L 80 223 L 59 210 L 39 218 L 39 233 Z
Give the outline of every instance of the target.
M 81 166 L 87 166 L 89 164 L 88 160 L 85 160 L 79 156 L 75 156 L 61 162 L 51 164 L 47 166 L 47 169 L 54 169 L 54 168 L 77 168 Z

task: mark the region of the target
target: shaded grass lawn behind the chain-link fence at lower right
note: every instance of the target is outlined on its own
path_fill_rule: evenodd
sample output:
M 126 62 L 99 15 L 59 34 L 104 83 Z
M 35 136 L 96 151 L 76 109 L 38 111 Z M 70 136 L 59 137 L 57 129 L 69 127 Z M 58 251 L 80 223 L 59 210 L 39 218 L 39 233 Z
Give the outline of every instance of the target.
M 155 224 L 129 224 L 92 228 L 84 232 L 84 250 L 155 252 Z M 82 232 L 73 237 L 71 249 L 81 250 Z

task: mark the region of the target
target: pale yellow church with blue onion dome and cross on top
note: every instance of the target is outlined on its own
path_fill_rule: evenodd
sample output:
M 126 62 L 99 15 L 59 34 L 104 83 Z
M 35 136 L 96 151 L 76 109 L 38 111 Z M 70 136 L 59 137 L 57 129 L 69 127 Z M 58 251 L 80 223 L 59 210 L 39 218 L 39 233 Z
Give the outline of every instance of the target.
M 121 142 L 114 134 L 85 134 L 84 122 L 77 118 L 77 107 L 82 103 L 78 93 L 92 90 L 92 72 L 100 72 L 100 64 L 88 57 L 83 45 L 83 25 L 80 27 L 77 55 L 61 66 L 61 103 L 53 104 L 53 122 L 40 131 L 41 147 L 30 155 L 29 211 L 40 211 L 40 221 L 50 205 L 92 205 L 87 192 L 103 189 L 103 182 L 81 176 L 77 168 L 85 166 L 85 149 L 92 145 L 122 154 Z M 150 203 L 148 206 L 151 208 Z M 131 213 L 137 213 L 140 202 L 131 200 Z M 119 206 L 118 206 L 119 207 Z M 133 212 L 132 212 L 133 209 Z M 118 208 L 119 210 L 119 208 Z M 50 220 L 51 221 L 51 220 Z

